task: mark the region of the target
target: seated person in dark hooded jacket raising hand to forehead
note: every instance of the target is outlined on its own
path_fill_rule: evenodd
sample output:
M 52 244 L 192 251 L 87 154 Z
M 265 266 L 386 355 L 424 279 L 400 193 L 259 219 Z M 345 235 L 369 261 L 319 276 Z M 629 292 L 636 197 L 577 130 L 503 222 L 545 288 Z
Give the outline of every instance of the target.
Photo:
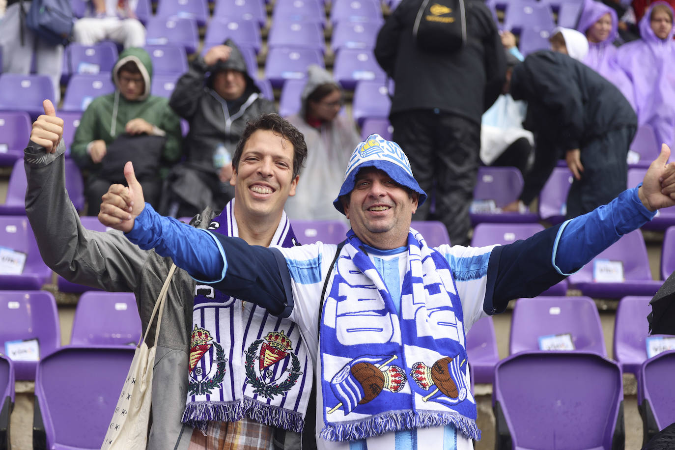
M 263 99 L 239 48 L 226 40 L 196 57 L 175 84 L 169 100 L 173 111 L 190 124 L 186 163 L 169 175 L 168 215 L 194 215 L 206 206 L 220 211 L 234 196 L 229 185 L 232 155 L 246 122 L 274 113 Z

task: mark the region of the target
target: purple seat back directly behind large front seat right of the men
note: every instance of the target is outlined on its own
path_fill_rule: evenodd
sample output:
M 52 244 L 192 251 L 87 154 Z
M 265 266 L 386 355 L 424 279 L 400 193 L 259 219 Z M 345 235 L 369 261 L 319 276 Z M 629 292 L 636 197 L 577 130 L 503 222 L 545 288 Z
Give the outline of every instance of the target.
M 509 354 L 539 350 L 539 338 L 572 336 L 575 351 L 607 356 L 600 315 L 588 297 L 519 298 L 511 318 Z

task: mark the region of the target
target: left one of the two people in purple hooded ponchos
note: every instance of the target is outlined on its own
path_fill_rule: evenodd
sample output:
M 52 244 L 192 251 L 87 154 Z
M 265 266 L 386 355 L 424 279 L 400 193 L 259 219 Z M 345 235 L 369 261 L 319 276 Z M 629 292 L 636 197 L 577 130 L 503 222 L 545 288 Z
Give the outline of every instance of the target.
M 583 32 L 589 41 L 589 53 L 583 62 L 610 80 L 635 107 L 632 82 L 616 63 L 616 47 L 613 43 L 618 36 L 616 11 L 594 0 L 585 0 L 576 29 Z

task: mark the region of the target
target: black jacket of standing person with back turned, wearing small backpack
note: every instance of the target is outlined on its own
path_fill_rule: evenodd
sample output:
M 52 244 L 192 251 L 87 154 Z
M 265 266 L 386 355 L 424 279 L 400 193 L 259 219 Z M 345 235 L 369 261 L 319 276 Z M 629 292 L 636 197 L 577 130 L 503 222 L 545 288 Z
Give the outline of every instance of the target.
M 481 123 L 504 86 L 506 57 L 492 15 L 482 1 L 466 1 L 467 40 L 462 49 L 419 49 L 412 27 L 423 0 L 403 0 L 382 26 L 375 58 L 396 82 L 391 114 L 439 109 Z

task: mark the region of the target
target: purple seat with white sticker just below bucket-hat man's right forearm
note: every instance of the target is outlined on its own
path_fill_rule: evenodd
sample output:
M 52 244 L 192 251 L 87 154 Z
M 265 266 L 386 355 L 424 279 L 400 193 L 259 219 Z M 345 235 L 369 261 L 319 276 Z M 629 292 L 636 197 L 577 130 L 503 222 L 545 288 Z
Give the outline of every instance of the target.
M 605 269 L 604 261 L 620 262 L 623 267 L 623 282 L 596 282 L 594 267 Z M 653 296 L 663 281 L 651 278 L 647 246 L 640 230 L 622 236 L 568 278 L 570 287 L 580 289 L 585 296 L 593 298 L 622 298 L 624 296 Z

